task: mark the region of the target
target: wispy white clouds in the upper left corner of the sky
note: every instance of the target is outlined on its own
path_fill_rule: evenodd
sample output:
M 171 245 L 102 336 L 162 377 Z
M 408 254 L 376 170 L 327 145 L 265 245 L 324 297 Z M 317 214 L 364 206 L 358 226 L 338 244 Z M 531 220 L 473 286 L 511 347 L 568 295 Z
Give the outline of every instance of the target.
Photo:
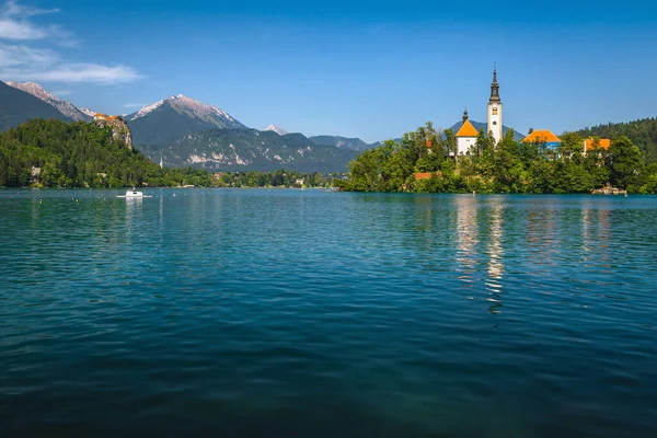
M 126 83 L 142 78 L 134 68 L 62 59 L 48 48 L 33 44 L 76 47 L 74 35 L 59 24 L 37 25 L 32 16 L 58 13 L 58 9 L 38 9 L 9 0 L 0 7 L 0 78 L 14 81 L 64 83 Z M 4 43 L 2 42 L 4 41 Z M 11 41 L 13 43 L 9 43 Z

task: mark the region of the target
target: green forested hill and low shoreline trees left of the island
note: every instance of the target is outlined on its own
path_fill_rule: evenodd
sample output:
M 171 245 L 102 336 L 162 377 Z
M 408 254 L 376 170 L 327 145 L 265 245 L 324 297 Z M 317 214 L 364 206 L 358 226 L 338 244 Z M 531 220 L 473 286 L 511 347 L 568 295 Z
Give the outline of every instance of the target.
M 327 181 L 318 173 L 285 170 L 160 169 L 136 149 L 113 140 L 111 128 L 84 122 L 33 119 L 0 132 L 0 187 L 266 187 L 320 186 Z

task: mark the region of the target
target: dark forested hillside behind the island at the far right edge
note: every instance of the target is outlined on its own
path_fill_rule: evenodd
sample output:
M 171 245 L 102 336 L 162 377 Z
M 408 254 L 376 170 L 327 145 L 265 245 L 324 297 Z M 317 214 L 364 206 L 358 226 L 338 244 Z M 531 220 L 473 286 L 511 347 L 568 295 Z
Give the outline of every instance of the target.
M 646 164 L 657 162 L 657 117 L 618 124 L 598 125 L 578 130 L 581 137 L 619 138 L 627 137 L 638 147 Z

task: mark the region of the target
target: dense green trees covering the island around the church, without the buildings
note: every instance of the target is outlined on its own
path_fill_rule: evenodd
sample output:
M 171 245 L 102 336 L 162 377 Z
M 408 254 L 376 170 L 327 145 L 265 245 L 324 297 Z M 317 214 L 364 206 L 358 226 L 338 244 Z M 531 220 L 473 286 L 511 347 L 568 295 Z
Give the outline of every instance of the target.
M 625 136 L 612 137 L 609 150 L 583 154 L 583 137 L 566 132 L 557 150 L 522 143 L 509 130 L 498 145 L 480 130 L 468 155 L 454 158 L 452 130 L 440 135 L 433 125 L 407 132 L 362 152 L 349 164 L 347 181 L 355 192 L 443 193 L 589 193 L 611 184 L 631 193 L 657 193 L 657 164 Z M 424 178 L 416 178 L 424 173 Z M 428 177 L 427 177 L 428 176 Z

